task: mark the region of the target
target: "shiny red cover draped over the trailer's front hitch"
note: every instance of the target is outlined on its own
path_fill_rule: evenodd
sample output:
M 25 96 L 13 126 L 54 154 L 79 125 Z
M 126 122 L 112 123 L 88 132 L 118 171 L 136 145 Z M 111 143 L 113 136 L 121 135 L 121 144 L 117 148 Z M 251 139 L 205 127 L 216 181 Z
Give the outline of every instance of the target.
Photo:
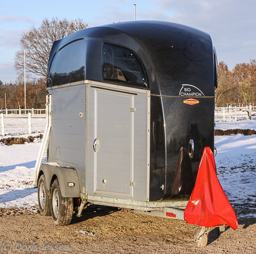
M 184 211 L 184 219 L 202 227 L 228 224 L 235 230 L 238 226 L 236 213 L 218 180 L 210 147 L 204 149 L 195 187 Z

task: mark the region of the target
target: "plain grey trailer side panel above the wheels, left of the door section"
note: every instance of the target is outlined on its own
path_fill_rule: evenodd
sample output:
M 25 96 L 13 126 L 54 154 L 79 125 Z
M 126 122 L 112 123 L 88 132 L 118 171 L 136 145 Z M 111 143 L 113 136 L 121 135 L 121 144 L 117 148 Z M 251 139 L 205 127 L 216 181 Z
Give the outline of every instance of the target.
M 48 88 L 52 94 L 48 162 L 76 168 L 81 192 L 85 190 L 85 88 L 84 82 Z

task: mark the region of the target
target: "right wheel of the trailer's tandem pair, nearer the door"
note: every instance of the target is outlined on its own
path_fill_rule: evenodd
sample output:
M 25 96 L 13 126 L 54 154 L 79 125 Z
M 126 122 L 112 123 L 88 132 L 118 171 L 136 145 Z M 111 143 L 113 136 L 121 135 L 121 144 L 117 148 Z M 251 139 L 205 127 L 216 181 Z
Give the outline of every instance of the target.
M 73 198 L 62 197 L 59 181 L 55 179 L 51 186 L 51 211 L 54 223 L 60 226 L 69 225 L 72 220 L 73 210 Z

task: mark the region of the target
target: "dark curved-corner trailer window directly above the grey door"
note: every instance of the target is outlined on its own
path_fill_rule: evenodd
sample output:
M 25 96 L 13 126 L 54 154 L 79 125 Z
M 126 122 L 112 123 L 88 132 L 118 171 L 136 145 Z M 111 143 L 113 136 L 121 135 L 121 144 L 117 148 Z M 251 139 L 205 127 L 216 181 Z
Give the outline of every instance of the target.
M 102 46 L 102 75 L 104 80 L 147 86 L 145 71 L 134 52 L 109 43 Z

